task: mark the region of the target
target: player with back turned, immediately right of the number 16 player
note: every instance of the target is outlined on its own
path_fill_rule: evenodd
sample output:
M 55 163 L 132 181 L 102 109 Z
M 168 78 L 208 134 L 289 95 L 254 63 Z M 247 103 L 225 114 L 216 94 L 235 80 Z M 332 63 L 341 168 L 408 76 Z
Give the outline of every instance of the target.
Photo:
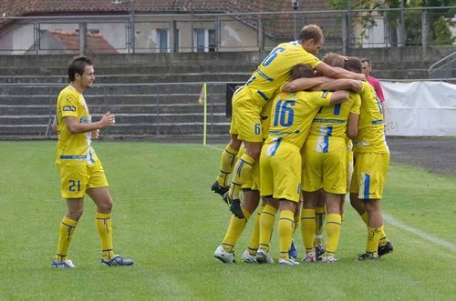
M 344 66 L 344 59 L 336 54 L 325 55 L 323 61 L 328 65 Z M 334 254 L 341 229 L 340 200 L 347 193 L 346 136 L 357 135 L 360 105 L 359 95 L 351 92 L 343 104 L 321 107 L 307 136 L 302 151 L 304 204 L 301 226 L 306 246 L 305 262 L 316 261 L 316 205 L 321 196 L 324 196 L 327 210 L 327 246 L 321 259 L 326 263 L 336 261 Z

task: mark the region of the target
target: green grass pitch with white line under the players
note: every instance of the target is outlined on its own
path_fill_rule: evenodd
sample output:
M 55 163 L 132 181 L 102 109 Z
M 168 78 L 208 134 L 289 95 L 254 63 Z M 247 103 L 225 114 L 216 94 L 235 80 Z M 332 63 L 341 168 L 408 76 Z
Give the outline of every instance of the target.
M 395 251 L 379 262 L 355 261 L 366 230 L 347 205 L 334 265 L 243 264 L 252 225 L 235 249 L 238 263 L 223 265 L 212 254 L 230 214 L 210 191 L 222 145 L 97 143 L 115 203 L 115 250 L 135 265 L 100 265 L 87 199 L 68 255 L 77 268 L 51 269 L 66 209 L 55 147 L 0 142 L 0 300 L 456 299 L 456 178 L 390 166 L 382 206 Z M 295 242 L 301 257 L 299 233 Z M 275 258 L 277 245 L 275 233 Z

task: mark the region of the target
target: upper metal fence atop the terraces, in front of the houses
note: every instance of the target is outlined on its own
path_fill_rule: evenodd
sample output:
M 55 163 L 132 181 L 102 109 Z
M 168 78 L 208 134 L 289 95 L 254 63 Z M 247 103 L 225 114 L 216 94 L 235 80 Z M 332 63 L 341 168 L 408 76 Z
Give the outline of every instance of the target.
M 262 51 L 295 38 L 303 25 L 313 23 L 323 28 L 326 48 L 340 53 L 353 47 L 448 45 L 454 36 L 438 37 L 433 22 L 442 17 L 454 30 L 454 20 L 441 12 L 455 8 L 6 16 L 0 17 L 0 55 Z

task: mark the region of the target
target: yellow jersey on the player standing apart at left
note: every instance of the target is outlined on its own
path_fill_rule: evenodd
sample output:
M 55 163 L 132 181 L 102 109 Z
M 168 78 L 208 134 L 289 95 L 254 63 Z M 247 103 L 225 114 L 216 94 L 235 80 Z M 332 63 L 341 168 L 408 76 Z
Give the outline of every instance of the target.
M 84 96 L 73 86 L 68 85 L 57 98 L 57 165 L 83 166 L 98 160 L 92 147 L 91 132 L 70 134 L 63 121 L 66 116 L 78 118 L 81 124 L 91 123 L 91 115 Z

